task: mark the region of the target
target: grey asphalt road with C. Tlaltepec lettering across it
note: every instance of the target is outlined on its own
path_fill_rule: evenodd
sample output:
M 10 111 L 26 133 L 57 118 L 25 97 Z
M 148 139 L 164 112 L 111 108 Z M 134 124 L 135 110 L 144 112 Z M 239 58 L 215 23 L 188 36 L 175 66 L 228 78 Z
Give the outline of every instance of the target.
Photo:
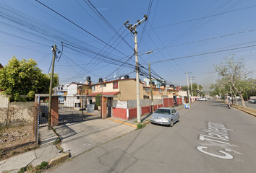
M 216 100 L 179 110 L 45 172 L 256 172 L 256 117 Z

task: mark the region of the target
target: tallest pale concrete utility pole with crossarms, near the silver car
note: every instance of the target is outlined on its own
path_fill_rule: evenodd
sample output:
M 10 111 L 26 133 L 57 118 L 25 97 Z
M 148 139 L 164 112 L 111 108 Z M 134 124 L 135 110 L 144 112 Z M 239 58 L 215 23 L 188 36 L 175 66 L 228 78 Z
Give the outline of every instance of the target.
M 136 88 L 137 88 L 137 123 L 141 123 L 141 116 L 140 116 L 140 76 L 139 76 L 139 62 L 138 62 L 138 48 L 137 48 L 137 31 L 136 28 L 143 22 L 145 22 L 148 19 L 147 15 L 144 15 L 144 18 L 141 20 L 137 20 L 137 23 L 135 25 L 128 24 L 129 20 L 127 22 L 124 22 L 124 26 L 128 28 L 132 34 L 135 35 L 135 69 L 136 69 Z

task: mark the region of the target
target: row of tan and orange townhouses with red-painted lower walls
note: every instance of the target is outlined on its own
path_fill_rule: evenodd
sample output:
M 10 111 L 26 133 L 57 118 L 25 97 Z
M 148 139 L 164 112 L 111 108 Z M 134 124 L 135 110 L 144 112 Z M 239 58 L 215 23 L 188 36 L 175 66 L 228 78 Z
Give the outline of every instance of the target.
M 129 79 L 128 76 L 125 79 L 116 79 L 114 81 L 99 79 L 98 84 L 92 84 L 90 77 L 88 79 L 88 81 L 85 81 L 85 84 L 80 82 L 71 83 L 67 86 L 67 97 L 74 97 L 74 107 L 87 107 L 95 102 L 95 97 L 98 94 L 101 94 L 102 116 L 121 117 L 123 119 L 137 116 L 137 87 L 135 79 Z M 140 81 L 142 114 L 143 112 L 151 112 L 151 91 L 148 80 Z M 163 98 L 171 99 L 171 102 L 179 102 L 179 104 L 184 103 L 184 96 L 187 93 L 182 91 L 179 86 L 176 86 L 176 88 L 173 85 L 166 86 L 165 81 L 159 79 L 153 79 L 152 85 L 155 109 L 163 106 Z M 82 103 L 82 99 L 79 96 L 86 96 L 86 101 L 84 100 Z M 161 101 L 159 101 L 160 99 Z

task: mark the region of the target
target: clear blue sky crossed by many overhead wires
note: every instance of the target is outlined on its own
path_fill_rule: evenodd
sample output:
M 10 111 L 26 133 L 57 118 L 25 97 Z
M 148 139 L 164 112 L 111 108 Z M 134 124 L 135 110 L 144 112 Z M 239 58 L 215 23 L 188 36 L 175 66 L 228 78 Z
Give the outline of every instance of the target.
M 90 76 L 95 84 L 99 78 L 113 80 L 115 74 L 135 78 L 135 43 L 124 22 L 134 24 L 147 14 L 148 20 L 137 27 L 139 54 L 153 50 L 139 56 L 145 76 L 150 63 L 153 76 L 182 86 L 187 84 L 185 72 L 192 72 L 193 82 L 208 90 L 218 79 L 213 64 L 226 56 L 244 58 L 247 69 L 255 69 L 253 0 L 38 1 L 0 0 L 3 66 L 12 56 L 33 58 L 47 74 L 51 46 L 56 44 L 62 54 L 58 54 L 54 72 L 61 83 Z M 249 77 L 255 78 L 255 73 Z

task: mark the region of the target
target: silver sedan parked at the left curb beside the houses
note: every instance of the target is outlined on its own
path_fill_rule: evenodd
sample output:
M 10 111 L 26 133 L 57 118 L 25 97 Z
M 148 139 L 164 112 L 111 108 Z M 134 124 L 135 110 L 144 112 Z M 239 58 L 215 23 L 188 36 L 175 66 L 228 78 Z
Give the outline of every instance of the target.
M 179 122 L 179 112 L 174 108 L 160 107 L 151 115 L 150 122 L 161 125 L 174 126 L 174 123 Z

